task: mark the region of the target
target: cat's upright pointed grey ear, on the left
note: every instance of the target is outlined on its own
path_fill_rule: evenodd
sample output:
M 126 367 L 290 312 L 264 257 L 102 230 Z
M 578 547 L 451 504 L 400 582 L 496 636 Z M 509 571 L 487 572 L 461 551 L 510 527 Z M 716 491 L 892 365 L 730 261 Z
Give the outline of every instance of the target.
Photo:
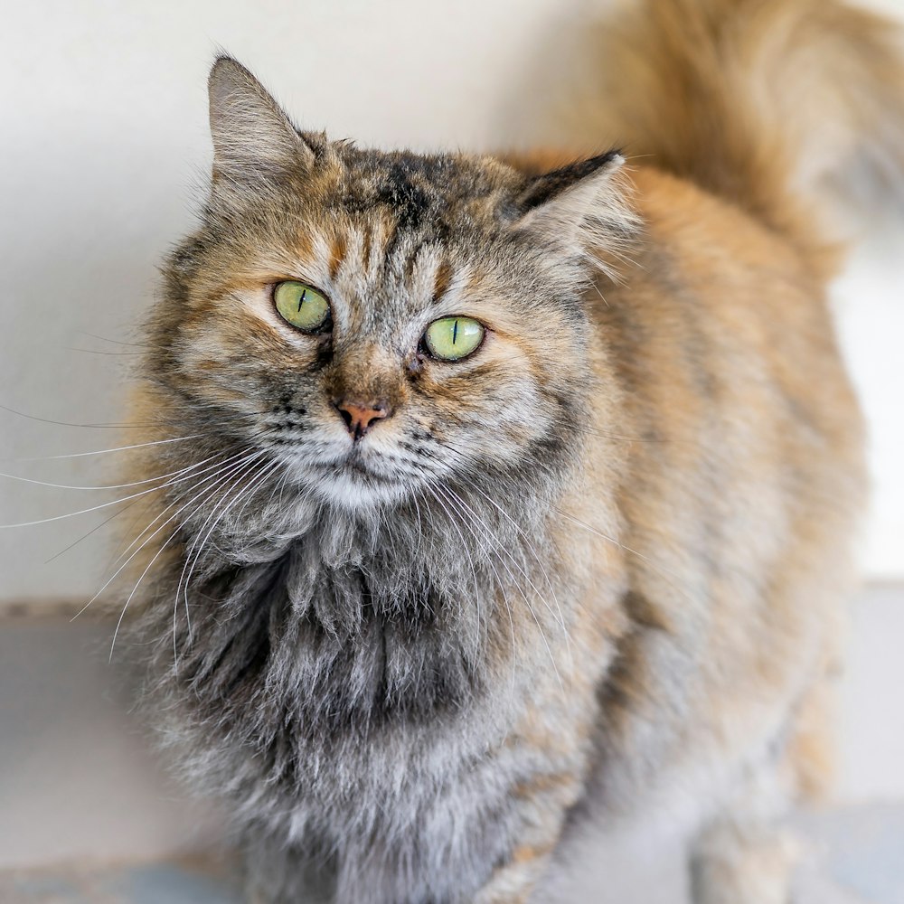
M 222 56 L 208 80 L 213 138 L 213 184 L 259 184 L 278 174 L 306 171 L 315 154 L 240 62 Z

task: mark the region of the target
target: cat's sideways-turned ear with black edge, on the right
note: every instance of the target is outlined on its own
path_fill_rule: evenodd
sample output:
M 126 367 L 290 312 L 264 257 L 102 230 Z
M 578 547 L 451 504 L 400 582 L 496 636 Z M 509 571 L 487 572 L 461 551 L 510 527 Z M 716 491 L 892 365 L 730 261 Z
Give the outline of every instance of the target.
M 551 173 L 533 176 L 514 200 L 513 229 L 560 246 L 579 247 L 612 231 L 622 239 L 636 231 L 636 215 L 617 180 L 625 158 L 608 151 Z

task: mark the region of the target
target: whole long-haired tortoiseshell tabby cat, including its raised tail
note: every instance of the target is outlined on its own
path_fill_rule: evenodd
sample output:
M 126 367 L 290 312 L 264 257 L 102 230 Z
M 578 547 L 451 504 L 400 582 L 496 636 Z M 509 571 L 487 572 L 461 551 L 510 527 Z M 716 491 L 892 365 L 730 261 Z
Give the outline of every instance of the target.
M 630 165 L 362 149 L 216 61 L 127 611 L 250 900 L 551 901 L 590 821 L 652 814 L 697 904 L 785 904 L 865 483 L 814 205 L 899 173 L 893 39 L 645 0 L 599 53 Z

